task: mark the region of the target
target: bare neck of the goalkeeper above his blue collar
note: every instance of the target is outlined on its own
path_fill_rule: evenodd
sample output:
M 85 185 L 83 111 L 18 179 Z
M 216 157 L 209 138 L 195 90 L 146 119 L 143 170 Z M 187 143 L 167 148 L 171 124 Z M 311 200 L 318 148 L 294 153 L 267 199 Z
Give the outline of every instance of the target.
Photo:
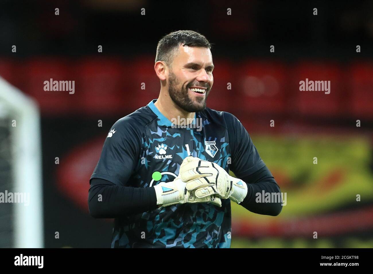
M 184 118 L 186 120 L 193 119 L 195 117 L 195 112 L 188 112 L 176 105 L 170 97 L 167 98 L 159 96 L 154 105 L 158 108 L 160 113 L 162 113 L 167 119 L 173 121 L 176 119 L 179 121 Z

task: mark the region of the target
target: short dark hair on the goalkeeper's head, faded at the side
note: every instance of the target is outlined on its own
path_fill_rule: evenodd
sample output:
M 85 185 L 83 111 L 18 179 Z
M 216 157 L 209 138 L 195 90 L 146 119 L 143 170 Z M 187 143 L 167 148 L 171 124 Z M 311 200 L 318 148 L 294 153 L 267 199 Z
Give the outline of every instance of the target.
M 174 31 L 162 37 L 157 45 L 156 62 L 163 61 L 171 67 L 179 45 L 189 47 L 205 47 L 211 49 L 210 42 L 202 34 L 195 31 Z

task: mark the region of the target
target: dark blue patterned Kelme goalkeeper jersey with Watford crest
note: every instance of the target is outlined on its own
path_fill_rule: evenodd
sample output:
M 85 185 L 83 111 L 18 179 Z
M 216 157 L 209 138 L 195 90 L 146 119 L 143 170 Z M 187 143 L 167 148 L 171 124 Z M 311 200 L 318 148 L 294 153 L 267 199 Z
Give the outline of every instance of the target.
M 241 122 L 206 108 L 190 127 L 177 128 L 151 101 L 119 119 L 91 176 L 119 186 L 149 188 L 170 182 L 189 155 L 214 162 L 237 177 L 265 166 Z M 176 123 L 175 123 L 176 124 Z M 112 248 L 229 248 L 231 200 L 176 204 L 116 218 Z

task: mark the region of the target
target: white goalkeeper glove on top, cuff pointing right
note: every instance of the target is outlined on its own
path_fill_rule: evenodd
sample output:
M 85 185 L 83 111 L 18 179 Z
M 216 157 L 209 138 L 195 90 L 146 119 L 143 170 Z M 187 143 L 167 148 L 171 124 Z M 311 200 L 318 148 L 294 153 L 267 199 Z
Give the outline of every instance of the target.
M 247 195 L 247 184 L 244 181 L 230 176 L 218 164 L 197 157 L 184 159 L 179 177 L 186 182 L 186 189 L 194 191 L 197 198 L 215 194 L 239 204 Z

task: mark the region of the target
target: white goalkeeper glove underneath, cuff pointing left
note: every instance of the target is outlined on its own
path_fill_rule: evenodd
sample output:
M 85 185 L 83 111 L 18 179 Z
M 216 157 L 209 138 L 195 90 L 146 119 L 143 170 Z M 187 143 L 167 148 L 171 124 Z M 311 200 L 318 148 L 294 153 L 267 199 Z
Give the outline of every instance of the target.
M 213 205 L 222 207 L 222 200 L 213 195 L 210 186 L 201 187 L 201 191 L 211 193 L 203 197 L 196 197 L 194 191 L 186 189 L 186 183 L 184 183 L 179 177 L 176 177 L 172 182 L 162 182 L 154 186 L 157 196 L 157 205 L 167 207 L 174 204 L 185 204 L 185 203 L 204 203 L 210 202 Z

